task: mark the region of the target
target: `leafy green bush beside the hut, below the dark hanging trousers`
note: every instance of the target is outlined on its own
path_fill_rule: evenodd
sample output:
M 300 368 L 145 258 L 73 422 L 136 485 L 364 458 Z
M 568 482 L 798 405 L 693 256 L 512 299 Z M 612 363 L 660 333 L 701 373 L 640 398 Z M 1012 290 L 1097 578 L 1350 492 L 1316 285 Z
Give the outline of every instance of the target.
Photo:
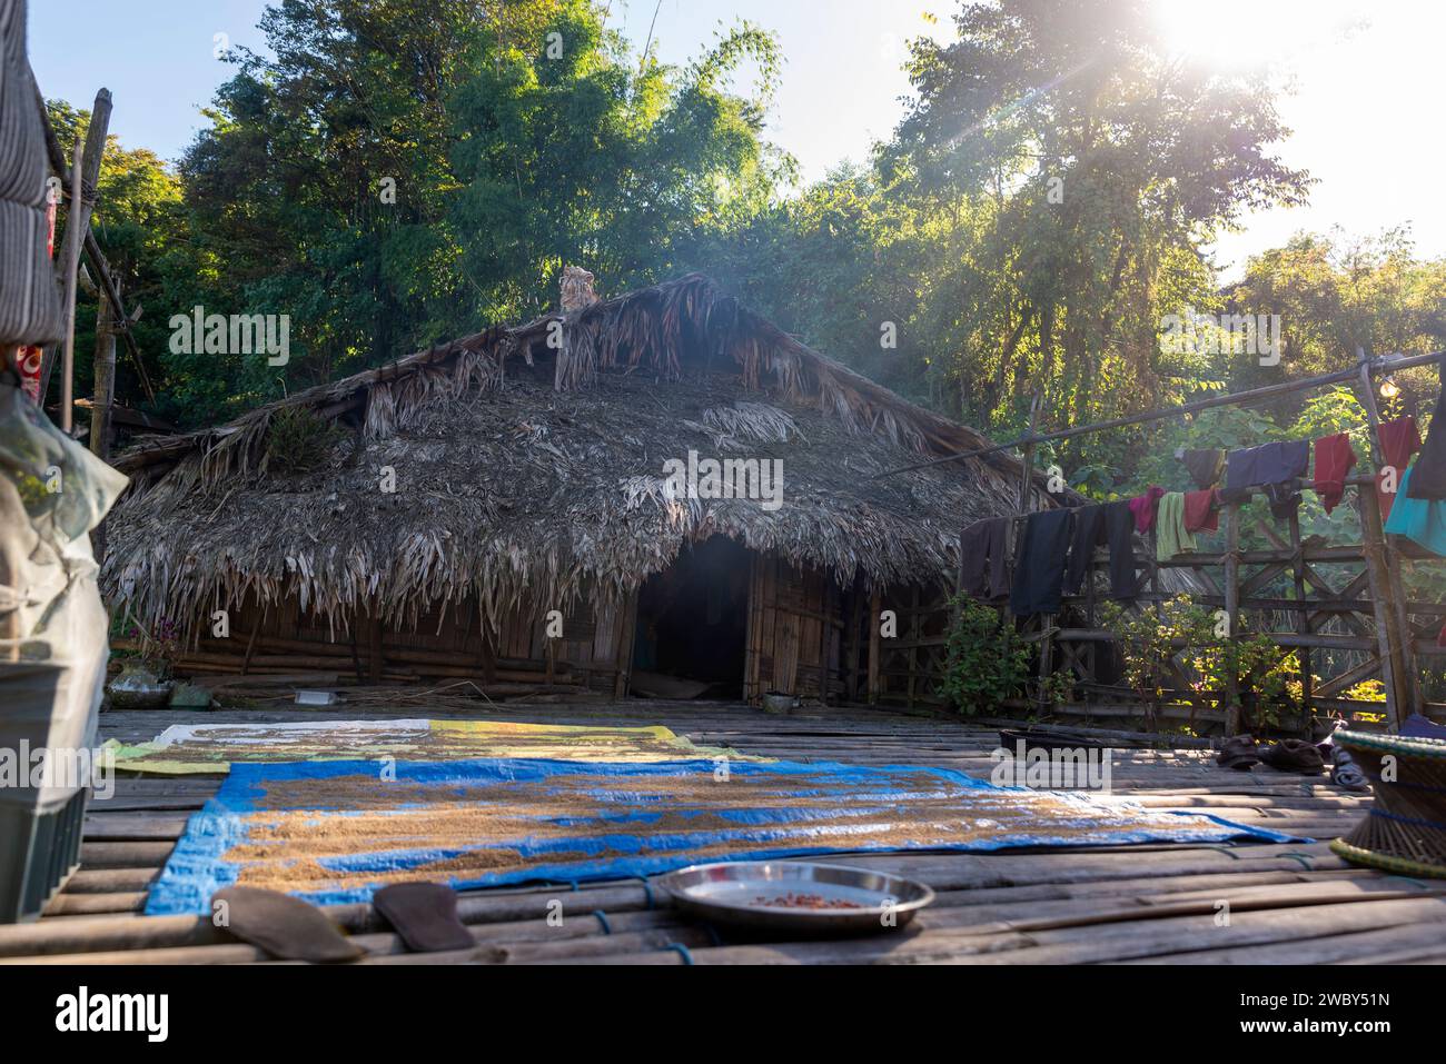
M 1025 691 L 1032 651 L 1002 610 L 954 596 L 949 629 L 949 659 L 938 694 L 960 711 L 976 716 L 995 710 Z

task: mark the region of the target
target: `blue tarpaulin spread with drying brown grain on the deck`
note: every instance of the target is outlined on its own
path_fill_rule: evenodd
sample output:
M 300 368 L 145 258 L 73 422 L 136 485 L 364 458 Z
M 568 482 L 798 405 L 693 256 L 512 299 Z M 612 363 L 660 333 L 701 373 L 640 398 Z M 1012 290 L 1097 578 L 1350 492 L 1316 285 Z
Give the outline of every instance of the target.
M 457 889 L 648 876 L 710 860 L 1012 846 L 1294 841 L 937 768 L 683 760 L 236 763 L 146 902 L 205 914 L 230 883 L 318 905 L 390 882 Z

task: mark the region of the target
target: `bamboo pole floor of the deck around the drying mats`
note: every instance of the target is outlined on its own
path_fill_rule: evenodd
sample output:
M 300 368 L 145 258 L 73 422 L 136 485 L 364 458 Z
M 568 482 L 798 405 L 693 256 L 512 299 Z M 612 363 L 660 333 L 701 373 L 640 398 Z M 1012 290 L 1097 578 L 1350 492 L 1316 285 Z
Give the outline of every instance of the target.
M 934 765 L 988 776 L 992 729 L 857 708 L 772 717 L 742 705 L 629 701 L 489 705 L 484 713 L 305 710 L 107 713 L 101 737 L 150 739 L 174 723 L 483 716 L 560 724 L 667 724 L 700 745 L 791 760 Z M 0 964 L 275 963 L 204 919 L 142 917 L 146 889 L 218 776 L 126 778 L 93 802 L 81 869 L 45 915 L 0 927 Z M 1356 869 L 1326 843 L 1371 798 L 1323 776 L 1215 766 L 1206 753 L 1121 750 L 1113 792 L 1160 810 L 1206 811 L 1307 836 L 1310 844 L 1131 846 L 991 854 L 870 854 L 830 862 L 927 882 L 937 904 L 897 934 L 842 941 L 740 941 L 683 921 L 642 880 L 578 891 L 463 895 L 476 947 L 408 954 L 366 905 L 330 915 L 370 953 L 363 964 L 1252 964 L 1446 961 L 1446 880 Z M 562 922 L 549 922 L 561 904 Z M 1223 918 L 1228 905 L 1228 921 Z M 596 914 L 604 914 L 599 918 Z

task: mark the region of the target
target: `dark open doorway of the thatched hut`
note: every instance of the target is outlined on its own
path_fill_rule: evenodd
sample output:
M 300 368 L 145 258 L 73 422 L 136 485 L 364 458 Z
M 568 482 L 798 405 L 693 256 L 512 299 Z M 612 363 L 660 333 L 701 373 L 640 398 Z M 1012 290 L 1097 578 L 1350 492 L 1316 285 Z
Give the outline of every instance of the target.
M 743 697 L 749 552 L 726 536 L 685 546 L 638 593 L 632 692 Z

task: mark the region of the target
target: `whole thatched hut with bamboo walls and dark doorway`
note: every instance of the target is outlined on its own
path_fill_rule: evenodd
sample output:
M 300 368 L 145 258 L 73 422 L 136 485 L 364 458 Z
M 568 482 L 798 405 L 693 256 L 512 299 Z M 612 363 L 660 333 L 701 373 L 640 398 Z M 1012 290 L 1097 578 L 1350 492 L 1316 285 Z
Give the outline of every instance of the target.
M 875 474 L 982 445 L 688 276 L 133 448 L 104 587 L 207 671 L 876 697 L 878 612 L 938 603 L 1022 471 Z M 709 458 L 781 497 L 680 492 Z

